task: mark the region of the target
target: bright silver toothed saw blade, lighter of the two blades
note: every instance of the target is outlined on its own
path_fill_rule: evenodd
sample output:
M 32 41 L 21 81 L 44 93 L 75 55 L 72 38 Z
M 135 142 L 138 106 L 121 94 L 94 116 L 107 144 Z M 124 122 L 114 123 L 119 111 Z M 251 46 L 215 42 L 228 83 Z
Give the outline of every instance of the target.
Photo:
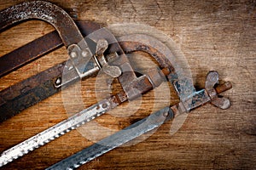
M 59 138 L 61 135 L 68 133 L 69 131 L 81 126 L 85 122 L 90 122 L 98 116 L 101 116 L 105 112 L 109 111 L 115 105 L 113 105 L 113 98 L 103 99 L 96 105 L 91 105 L 84 111 L 69 117 L 65 121 L 56 124 L 53 127 L 49 127 L 42 133 L 38 133 L 30 139 L 26 139 L 24 142 L 15 145 L 9 150 L 5 150 L 0 156 L 0 167 L 17 159 L 20 156 L 26 155 L 28 152 L 37 149 L 49 141 Z

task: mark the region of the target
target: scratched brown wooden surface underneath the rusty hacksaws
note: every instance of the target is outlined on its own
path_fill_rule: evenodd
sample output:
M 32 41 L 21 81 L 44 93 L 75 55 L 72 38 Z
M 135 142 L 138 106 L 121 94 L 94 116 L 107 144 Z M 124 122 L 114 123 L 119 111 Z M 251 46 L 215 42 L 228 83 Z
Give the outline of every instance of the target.
M 1 1 L 0 9 L 21 1 Z M 120 147 L 79 169 L 255 169 L 256 168 L 256 2 L 250 1 L 52 1 L 74 20 L 93 20 L 102 26 L 143 23 L 172 37 L 188 60 L 196 87 L 203 88 L 207 71 L 216 70 L 233 88 L 224 93 L 230 109 L 212 105 L 191 111 L 177 133 L 166 122 L 148 139 Z M 0 34 L 0 56 L 54 30 L 42 21 L 27 21 Z M 67 59 L 60 48 L 0 79 L 0 90 Z M 141 65 L 143 60 L 140 61 Z M 83 82 L 84 107 L 96 103 L 95 78 Z M 165 100 L 165 99 L 162 99 Z M 168 101 L 168 99 L 166 99 Z M 175 100 L 175 98 L 174 98 Z M 136 112 L 153 111 L 154 93 L 143 97 Z M 156 101 L 162 103 L 163 101 Z M 174 103 L 173 101 L 171 103 Z M 125 114 L 126 110 L 119 110 Z M 20 143 L 67 118 L 61 93 L 0 124 L 0 151 Z M 131 116 L 106 115 L 102 127 L 120 129 Z M 90 137 L 93 138 L 93 133 Z M 9 163 L 3 169 L 43 169 L 93 144 L 77 130 Z

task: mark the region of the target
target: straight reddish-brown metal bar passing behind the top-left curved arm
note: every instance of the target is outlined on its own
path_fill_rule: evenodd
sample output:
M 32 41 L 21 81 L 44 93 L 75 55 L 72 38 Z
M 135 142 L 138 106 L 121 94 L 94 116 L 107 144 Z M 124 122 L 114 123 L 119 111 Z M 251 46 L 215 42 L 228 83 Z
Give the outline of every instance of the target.
M 83 37 L 101 28 L 101 26 L 91 21 L 76 21 L 75 23 Z M 57 31 L 51 31 L 43 37 L 38 37 L 36 40 L 0 57 L 0 77 L 44 56 L 44 54 L 61 48 L 63 45 Z

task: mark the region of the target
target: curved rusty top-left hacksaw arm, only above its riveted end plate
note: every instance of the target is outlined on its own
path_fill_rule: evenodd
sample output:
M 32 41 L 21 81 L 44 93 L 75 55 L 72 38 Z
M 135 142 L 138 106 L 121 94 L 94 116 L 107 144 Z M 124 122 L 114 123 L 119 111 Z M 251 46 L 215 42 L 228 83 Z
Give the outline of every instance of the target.
M 0 11 L 0 31 L 28 19 L 44 20 L 54 26 L 66 47 L 83 39 L 72 18 L 62 8 L 44 1 L 24 2 Z

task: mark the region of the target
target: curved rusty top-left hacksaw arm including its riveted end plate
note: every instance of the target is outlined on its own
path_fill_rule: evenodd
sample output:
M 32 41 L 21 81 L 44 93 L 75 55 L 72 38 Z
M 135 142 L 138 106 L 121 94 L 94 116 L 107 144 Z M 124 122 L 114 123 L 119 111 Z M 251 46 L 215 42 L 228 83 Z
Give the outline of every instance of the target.
M 62 8 L 43 1 L 17 4 L 0 11 L 0 30 L 28 19 L 44 20 L 54 26 L 66 46 L 68 54 L 70 54 L 70 59 L 73 61 L 73 66 L 79 77 L 83 78 L 84 74 L 88 74 L 83 68 L 84 65 L 94 64 L 94 60 L 92 59 L 92 55 L 94 54 L 93 47 L 90 47 L 90 40 L 88 40 L 88 43 L 86 42 L 72 18 Z M 73 58 L 72 54 L 75 53 L 73 51 L 74 46 L 78 47 L 81 53 L 87 51 L 86 55 L 78 54 L 78 57 Z

